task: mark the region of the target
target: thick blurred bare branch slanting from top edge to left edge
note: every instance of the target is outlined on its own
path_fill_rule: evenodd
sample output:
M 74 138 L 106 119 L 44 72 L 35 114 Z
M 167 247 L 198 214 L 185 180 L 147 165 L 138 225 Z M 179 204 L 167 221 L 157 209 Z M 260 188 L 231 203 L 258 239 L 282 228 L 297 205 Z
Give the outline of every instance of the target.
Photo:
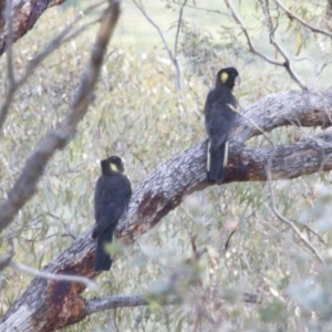
M 93 45 L 90 63 L 66 116 L 54 131 L 51 131 L 40 141 L 28 158 L 20 177 L 9 191 L 8 198 L 0 204 L 0 231 L 11 222 L 18 210 L 34 195 L 48 162 L 56 149 L 63 148 L 69 143 L 80 120 L 87 112 L 91 93 L 95 86 L 104 53 L 118 15 L 118 2 L 111 1 Z

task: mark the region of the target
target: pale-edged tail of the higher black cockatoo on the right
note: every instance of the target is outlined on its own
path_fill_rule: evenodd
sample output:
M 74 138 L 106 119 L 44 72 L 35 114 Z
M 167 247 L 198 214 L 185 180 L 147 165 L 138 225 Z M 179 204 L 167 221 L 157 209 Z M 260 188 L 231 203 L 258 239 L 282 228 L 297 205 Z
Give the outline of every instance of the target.
M 207 179 L 209 183 L 221 183 L 224 180 L 227 160 L 228 142 L 216 151 L 211 151 L 209 143 L 207 151 Z

